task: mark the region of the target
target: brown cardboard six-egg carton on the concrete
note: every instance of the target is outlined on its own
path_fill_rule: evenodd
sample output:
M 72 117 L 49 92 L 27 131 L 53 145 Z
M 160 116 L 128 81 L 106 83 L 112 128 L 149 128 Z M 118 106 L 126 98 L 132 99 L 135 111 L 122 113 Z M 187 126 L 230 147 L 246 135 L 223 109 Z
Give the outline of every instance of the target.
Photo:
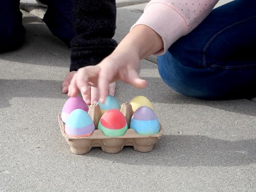
M 133 115 L 131 104 L 123 103 L 120 111 L 124 115 L 128 127 L 130 127 L 130 121 Z M 101 150 L 106 153 L 118 153 L 122 151 L 124 146 L 133 146 L 134 150 L 139 152 L 150 152 L 157 140 L 163 135 L 163 130 L 160 126 L 160 132 L 154 135 L 139 135 L 135 130 L 128 129 L 122 136 L 105 136 L 101 130 L 97 130 L 101 117 L 99 105 L 91 104 L 88 114 L 92 117 L 95 125 L 95 131 L 89 137 L 70 137 L 67 135 L 65 133 L 65 123 L 62 122 L 61 115 L 58 115 L 61 133 L 70 145 L 71 152 L 74 154 L 86 154 L 91 151 L 92 147 L 101 147 Z

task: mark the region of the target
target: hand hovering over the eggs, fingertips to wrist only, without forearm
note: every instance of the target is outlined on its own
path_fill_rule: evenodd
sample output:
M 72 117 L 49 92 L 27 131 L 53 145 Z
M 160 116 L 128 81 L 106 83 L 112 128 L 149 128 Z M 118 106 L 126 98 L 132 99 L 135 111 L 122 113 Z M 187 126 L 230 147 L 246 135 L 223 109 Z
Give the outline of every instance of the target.
M 137 88 L 145 88 L 147 82 L 139 77 L 140 58 L 138 54 L 127 50 L 116 50 L 96 66 L 81 68 L 74 75 L 69 86 L 70 97 L 90 93 L 89 86 L 98 87 L 100 101 L 104 102 L 110 92 L 109 84 L 118 79 Z

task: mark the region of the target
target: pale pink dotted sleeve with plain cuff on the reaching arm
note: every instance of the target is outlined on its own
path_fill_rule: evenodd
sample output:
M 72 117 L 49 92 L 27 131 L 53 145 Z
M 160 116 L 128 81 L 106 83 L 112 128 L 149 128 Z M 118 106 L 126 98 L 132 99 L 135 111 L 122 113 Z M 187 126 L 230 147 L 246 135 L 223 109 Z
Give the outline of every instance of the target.
M 132 26 L 146 25 L 163 40 L 163 54 L 180 37 L 195 29 L 219 0 L 152 0 Z M 132 29 L 131 28 L 131 29 Z

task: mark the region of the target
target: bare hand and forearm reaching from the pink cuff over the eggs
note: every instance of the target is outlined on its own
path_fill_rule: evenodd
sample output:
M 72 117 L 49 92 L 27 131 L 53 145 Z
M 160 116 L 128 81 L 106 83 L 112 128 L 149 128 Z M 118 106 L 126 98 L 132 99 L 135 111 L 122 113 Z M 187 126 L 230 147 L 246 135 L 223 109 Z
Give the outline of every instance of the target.
M 98 87 L 100 102 L 109 94 L 109 84 L 118 79 L 136 88 L 145 88 L 147 82 L 139 77 L 140 59 L 163 49 L 162 38 L 150 27 L 135 26 L 115 51 L 96 66 L 81 68 L 69 86 L 70 97 L 90 93 L 89 86 Z

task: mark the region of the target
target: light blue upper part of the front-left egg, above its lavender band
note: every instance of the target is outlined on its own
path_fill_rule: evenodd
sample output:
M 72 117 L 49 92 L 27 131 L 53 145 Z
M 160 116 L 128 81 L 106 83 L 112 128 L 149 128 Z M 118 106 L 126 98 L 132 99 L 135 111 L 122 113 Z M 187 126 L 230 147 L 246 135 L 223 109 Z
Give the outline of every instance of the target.
M 90 115 L 81 109 L 74 110 L 70 113 L 66 125 L 73 128 L 86 127 L 93 123 Z

